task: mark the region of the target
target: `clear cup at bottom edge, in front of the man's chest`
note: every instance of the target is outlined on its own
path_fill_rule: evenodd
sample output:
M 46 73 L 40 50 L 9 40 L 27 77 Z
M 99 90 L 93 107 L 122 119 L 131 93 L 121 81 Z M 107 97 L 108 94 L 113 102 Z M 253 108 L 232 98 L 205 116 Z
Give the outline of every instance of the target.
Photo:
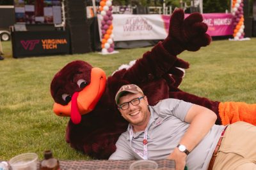
M 153 169 L 157 169 L 157 167 L 158 167 L 158 164 L 154 160 L 137 160 L 131 164 L 130 170 L 138 170 L 138 169 L 153 170 Z

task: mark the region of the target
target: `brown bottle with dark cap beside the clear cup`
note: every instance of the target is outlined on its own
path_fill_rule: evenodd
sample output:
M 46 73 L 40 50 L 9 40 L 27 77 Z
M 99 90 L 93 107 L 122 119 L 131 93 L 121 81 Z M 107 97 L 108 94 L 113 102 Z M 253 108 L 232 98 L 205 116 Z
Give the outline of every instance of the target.
M 45 150 L 44 160 L 40 162 L 40 170 L 60 170 L 59 160 L 52 157 L 51 150 Z

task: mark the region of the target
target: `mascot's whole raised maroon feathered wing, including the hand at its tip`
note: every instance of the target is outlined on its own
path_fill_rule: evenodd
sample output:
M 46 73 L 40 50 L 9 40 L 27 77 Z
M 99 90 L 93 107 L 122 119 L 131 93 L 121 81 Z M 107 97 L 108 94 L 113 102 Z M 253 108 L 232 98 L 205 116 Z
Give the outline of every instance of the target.
M 205 33 L 207 25 L 202 21 L 200 13 L 193 13 L 184 19 L 184 11 L 175 10 L 170 18 L 167 38 L 157 43 L 151 51 L 144 53 L 141 59 L 136 60 L 122 75 L 122 79 L 140 84 L 165 78 L 168 83 L 178 87 L 184 72 L 177 67 L 186 69 L 189 64 L 177 58 L 177 55 L 184 50 L 199 50 L 201 46 L 211 42 L 211 37 Z

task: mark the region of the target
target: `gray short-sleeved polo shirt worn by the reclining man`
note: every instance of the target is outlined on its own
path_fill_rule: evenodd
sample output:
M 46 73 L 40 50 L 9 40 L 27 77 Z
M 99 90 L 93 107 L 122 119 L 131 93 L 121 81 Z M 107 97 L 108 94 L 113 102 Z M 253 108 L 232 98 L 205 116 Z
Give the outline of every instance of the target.
M 184 118 L 192 105 L 178 99 L 164 99 L 156 106 L 149 106 L 151 115 L 147 125 L 148 159 L 166 159 L 172 153 L 189 127 L 189 124 L 184 122 Z M 186 159 L 189 170 L 207 169 L 223 129 L 223 125 L 213 125 L 205 138 L 189 153 Z M 132 148 L 143 153 L 144 131 L 133 134 L 132 148 L 129 131 L 130 125 L 118 138 L 116 152 L 109 157 L 109 160 L 141 159 Z

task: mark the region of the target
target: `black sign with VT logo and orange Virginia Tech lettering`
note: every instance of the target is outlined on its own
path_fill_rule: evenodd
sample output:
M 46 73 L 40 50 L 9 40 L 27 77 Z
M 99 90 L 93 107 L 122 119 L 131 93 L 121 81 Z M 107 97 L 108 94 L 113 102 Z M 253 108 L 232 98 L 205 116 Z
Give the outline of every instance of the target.
M 13 57 L 60 55 L 70 53 L 67 31 L 12 32 Z

